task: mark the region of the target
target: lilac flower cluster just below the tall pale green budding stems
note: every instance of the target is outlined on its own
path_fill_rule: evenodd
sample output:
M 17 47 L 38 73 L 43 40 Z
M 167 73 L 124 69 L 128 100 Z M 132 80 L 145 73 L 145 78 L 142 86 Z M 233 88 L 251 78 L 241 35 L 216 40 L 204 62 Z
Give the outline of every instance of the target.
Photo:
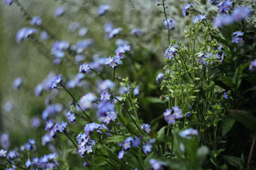
M 168 124 L 173 124 L 175 120 L 182 118 L 182 111 L 179 109 L 179 106 L 172 107 L 171 110 L 167 109 L 163 115 L 164 120 L 168 122 Z

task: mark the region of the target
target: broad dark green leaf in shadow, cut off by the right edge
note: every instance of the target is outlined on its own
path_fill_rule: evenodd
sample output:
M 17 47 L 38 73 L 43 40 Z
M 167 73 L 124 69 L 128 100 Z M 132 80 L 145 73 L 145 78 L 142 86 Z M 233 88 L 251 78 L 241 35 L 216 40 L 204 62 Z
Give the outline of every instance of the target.
M 256 131 L 256 117 L 243 110 L 228 110 L 228 113 L 237 121 L 243 124 L 249 131 Z

